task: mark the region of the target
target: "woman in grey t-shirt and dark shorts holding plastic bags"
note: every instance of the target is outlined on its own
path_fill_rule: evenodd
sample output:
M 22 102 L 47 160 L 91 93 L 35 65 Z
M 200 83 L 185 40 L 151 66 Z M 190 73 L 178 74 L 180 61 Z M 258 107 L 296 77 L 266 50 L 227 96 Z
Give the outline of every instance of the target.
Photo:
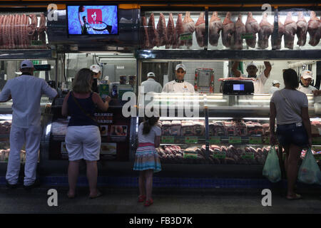
M 275 118 L 277 140 L 285 149 L 287 199 L 300 199 L 294 191 L 298 162 L 302 148 L 312 146 L 311 125 L 307 108 L 307 95 L 299 86 L 297 73 L 292 69 L 283 72 L 285 88 L 275 92 L 270 101 L 270 142 L 275 145 Z

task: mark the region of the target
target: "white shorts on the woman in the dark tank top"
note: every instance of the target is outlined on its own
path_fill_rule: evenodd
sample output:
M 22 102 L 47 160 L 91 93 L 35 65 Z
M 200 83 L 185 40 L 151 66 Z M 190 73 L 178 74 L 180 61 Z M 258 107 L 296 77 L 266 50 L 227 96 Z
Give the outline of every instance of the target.
M 70 126 L 67 129 L 65 141 L 69 161 L 99 160 L 101 133 L 97 126 Z

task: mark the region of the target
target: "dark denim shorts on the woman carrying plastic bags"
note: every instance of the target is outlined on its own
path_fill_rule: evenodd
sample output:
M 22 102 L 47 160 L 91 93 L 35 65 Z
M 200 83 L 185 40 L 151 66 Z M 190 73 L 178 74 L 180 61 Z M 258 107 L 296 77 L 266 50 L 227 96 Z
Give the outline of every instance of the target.
M 307 147 L 307 131 L 303 124 L 297 127 L 296 123 L 277 125 L 277 140 L 282 147 L 294 144 L 300 147 Z

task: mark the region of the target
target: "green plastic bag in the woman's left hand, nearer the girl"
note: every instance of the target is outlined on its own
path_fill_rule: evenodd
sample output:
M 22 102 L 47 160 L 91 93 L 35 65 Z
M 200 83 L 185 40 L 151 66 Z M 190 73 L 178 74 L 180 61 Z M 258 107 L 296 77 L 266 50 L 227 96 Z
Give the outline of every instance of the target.
M 271 146 L 263 167 L 263 176 L 267 177 L 270 182 L 279 182 L 282 178 L 279 157 L 275 147 Z

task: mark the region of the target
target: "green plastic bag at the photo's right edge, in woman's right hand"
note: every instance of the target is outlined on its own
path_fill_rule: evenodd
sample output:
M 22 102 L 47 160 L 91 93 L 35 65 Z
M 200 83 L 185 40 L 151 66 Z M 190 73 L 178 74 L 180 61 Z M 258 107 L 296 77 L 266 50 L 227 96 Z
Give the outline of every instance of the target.
M 310 148 L 302 161 L 297 180 L 305 184 L 321 185 L 321 171 Z

